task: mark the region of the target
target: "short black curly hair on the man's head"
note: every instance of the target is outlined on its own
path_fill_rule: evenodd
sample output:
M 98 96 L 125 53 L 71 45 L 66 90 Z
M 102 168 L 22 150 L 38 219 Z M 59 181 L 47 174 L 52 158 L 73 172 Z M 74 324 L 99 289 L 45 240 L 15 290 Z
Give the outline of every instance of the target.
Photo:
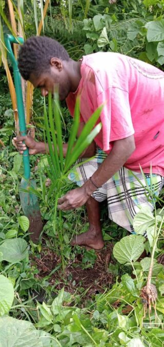
M 38 77 L 49 70 L 53 57 L 66 61 L 70 59 L 66 49 L 57 41 L 47 36 L 31 36 L 19 49 L 20 74 L 25 80 L 29 80 L 32 72 Z

